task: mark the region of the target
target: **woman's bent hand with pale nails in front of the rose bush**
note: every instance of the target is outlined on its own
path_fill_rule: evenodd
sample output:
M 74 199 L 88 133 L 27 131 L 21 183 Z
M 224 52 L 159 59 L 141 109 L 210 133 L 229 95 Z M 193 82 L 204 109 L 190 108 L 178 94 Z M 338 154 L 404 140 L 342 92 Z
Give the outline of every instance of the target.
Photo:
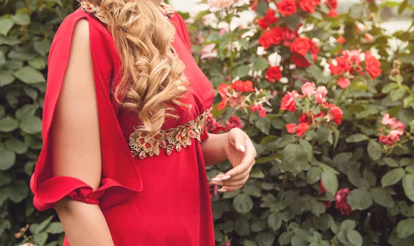
M 243 187 L 248 180 L 257 154 L 248 135 L 239 128 L 233 128 L 228 132 L 224 152 L 233 169 L 226 174 L 218 174 L 211 181 L 221 186 L 219 192 L 234 192 Z

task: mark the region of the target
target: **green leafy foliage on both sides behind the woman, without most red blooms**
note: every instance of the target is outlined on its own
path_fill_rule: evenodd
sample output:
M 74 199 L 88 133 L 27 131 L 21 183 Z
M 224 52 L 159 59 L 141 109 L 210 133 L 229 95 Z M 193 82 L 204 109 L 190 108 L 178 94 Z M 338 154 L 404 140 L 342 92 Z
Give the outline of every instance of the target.
M 210 130 L 226 130 L 220 126 L 235 115 L 259 154 L 243 189 L 215 194 L 212 185 L 217 245 L 413 245 L 414 28 L 387 34 L 380 23 L 386 10 L 411 17 L 414 2 L 361 1 L 337 17 L 326 17 L 331 10 L 325 1 L 313 13 L 300 8 L 286 17 L 277 13 L 272 26 L 294 31 L 302 25 L 301 37 L 320 47 L 317 59 L 306 54 L 304 68 L 294 65 L 295 52 L 285 45 L 259 44 L 266 30 L 257 19 L 268 8 L 276 10 L 276 2 L 281 1 L 253 1 L 257 17 L 240 26 L 233 20 L 244 19 L 249 6 L 181 13 L 188 19 L 195 59 L 217 88 Z M 0 3 L 0 245 L 61 245 L 57 216 L 34 209 L 28 183 L 41 149 L 48 50 L 76 3 Z M 338 42 L 340 37 L 346 41 Z M 366 73 L 332 74 L 328 64 L 342 50 L 355 49 L 373 52 L 382 74 L 375 79 Z M 281 68 L 283 79 L 271 83 L 266 71 L 273 66 Z M 351 82 L 344 89 L 337 85 L 343 76 Z M 252 81 L 257 90 L 235 90 L 235 80 Z M 290 134 L 286 125 L 299 123 L 308 99 L 297 99 L 298 109 L 289 112 L 280 109 L 282 98 L 308 81 L 327 88 L 326 98 L 340 107 L 342 122 L 321 121 L 302 136 Z M 242 103 L 223 103 L 232 96 Z M 255 110 L 258 105 L 266 116 Z M 315 114 L 327 113 L 309 105 Z M 391 145 L 378 140 L 385 134 L 386 113 L 405 125 L 400 141 Z M 229 167 L 208 167 L 208 176 Z M 339 203 L 351 210 L 343 212 Z

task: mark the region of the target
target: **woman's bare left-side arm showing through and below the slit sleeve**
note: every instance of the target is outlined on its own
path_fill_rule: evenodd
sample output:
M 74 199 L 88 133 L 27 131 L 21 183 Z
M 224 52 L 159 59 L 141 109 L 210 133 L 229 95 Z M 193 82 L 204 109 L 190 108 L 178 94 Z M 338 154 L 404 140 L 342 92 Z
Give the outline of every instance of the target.
M 93 189 L 99 187 L 102 165 L 99 119 L 86 20 L 78 21 L 75 26 L 50 141 L 54 176 L 72 176 Z M 54 208 L 71 246 L 114 245 L 98 205 L 63 198 Z

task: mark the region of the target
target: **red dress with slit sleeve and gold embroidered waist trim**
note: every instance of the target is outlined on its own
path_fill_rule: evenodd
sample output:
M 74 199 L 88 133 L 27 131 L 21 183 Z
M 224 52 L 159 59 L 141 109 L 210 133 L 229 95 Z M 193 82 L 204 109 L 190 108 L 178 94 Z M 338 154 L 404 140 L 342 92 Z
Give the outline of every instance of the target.
M 52 176 L 49 130 L 63 75 L 68 65 L 75 23 L 87 19 L 101 134 L 102 178 L 96 191 L 83 181 Z M 43 149 L 30 181 L 34 207 L 43 211 L 68 196 L 99 204 L 115 246 L 211 246 L 213 217 L 200 142 L 208 137 L 206 110 L 214 90 L 190 52 L 188 31 L 179 14 L 170 21 L 177 29 L 173 46 L 186 65 L 191 85 L 179 119 L 164 123 L 157 139 L 135 132 L 139 119 L 119 109 L 110 88 L 118 81 L 121 61 L 105 26 L 79 9 L 61 24 L 50 49 L 48 83 L 43 109 Z M 65 239 L 64 244 L 68 246 Z

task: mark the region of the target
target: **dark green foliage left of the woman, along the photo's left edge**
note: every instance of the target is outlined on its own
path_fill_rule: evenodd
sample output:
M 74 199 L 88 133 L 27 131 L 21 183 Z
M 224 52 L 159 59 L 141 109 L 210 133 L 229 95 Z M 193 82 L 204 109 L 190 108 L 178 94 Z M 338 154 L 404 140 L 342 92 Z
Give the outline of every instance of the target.
M 0 0 L 0 245 L 52 246 L 63 239 L 52 212 L 35 211 L 29 181 L 42 145 L 50 43 L 74 8 L 73 0 Z

